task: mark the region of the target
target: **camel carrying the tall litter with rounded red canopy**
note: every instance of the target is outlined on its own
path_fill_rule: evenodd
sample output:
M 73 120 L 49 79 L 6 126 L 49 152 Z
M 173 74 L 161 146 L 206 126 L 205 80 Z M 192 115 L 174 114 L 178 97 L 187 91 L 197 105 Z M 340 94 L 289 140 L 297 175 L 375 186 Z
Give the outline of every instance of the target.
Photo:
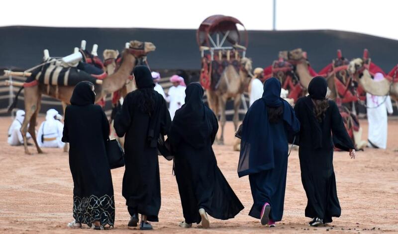
M 215 90 L 207 89 L 206 95 L 210 109 L 216 116 L 220 115 L 221 135 L 218 144 L 224 144 L 224 126 L 226 123 L 225 105 L 227 100 L 234 100 L 233 123 L 235 130 L 239 124 L 239 107 L 241 95 L 248 86 L 252 75 L 252 61 L 248 58 L 240 59 L 240 69 L 236 72 L 235 67 L 229 64 L 221 74 L 218 86 Z

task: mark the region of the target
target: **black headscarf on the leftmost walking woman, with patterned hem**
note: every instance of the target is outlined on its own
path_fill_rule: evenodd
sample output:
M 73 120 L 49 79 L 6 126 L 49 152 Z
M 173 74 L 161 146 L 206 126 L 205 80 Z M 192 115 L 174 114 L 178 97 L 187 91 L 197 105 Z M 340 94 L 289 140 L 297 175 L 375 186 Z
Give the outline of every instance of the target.
M 93 92 L 94 84 L 90 81 L 80 81 L 73 89 L 71 104 L 77 106 L 87 106 L 94 104 L 96 94 Z

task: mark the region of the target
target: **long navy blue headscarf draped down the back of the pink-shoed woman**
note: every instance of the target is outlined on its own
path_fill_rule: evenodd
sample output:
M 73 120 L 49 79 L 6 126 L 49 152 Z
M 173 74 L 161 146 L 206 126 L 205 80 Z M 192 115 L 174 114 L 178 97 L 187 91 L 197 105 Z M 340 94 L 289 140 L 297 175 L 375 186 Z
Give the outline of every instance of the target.
M 280 142 L 280 139 L 271 134 L 267 106 L 283 105 L 281 118 L 288 131 L 287 137 L 294 136 L 299 131 L 300 123 L 295 111 L 278 95 L 280 93 L 281 82 L 277 78 L 268 79 L 264 85 L 263 97 L 255 101 L 246 113 L 240 144 L 239 177 L 274 168 L 274 147 L 287 144 L 287 142 Z

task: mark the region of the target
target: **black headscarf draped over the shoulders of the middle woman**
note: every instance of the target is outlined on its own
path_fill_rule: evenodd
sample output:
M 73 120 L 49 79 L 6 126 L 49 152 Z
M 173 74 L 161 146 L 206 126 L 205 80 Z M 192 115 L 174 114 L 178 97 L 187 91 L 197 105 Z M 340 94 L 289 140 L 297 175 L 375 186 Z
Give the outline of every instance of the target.
M 200 149 L 208 144 L 206 139 L 212 132 L 206 115 L 207 107 L 202 101 L 203 88 L 194 82 L 187 86 L 185 93 L 185 104 L 176 111 L 170 134 L 178 134 L 187 144 Z

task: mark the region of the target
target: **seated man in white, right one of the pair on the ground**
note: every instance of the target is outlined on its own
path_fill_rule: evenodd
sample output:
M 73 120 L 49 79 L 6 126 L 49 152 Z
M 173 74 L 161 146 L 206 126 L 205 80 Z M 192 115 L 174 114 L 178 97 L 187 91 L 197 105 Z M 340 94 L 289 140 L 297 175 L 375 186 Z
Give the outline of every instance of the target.
M 46 120 L 41 123 L 37 132 L 37 144 L 39 147 L 63 148 L 65 143 L 61 141 L 64 125 L 61 123 L 62 117 L 55 109 L 49 109 Z

